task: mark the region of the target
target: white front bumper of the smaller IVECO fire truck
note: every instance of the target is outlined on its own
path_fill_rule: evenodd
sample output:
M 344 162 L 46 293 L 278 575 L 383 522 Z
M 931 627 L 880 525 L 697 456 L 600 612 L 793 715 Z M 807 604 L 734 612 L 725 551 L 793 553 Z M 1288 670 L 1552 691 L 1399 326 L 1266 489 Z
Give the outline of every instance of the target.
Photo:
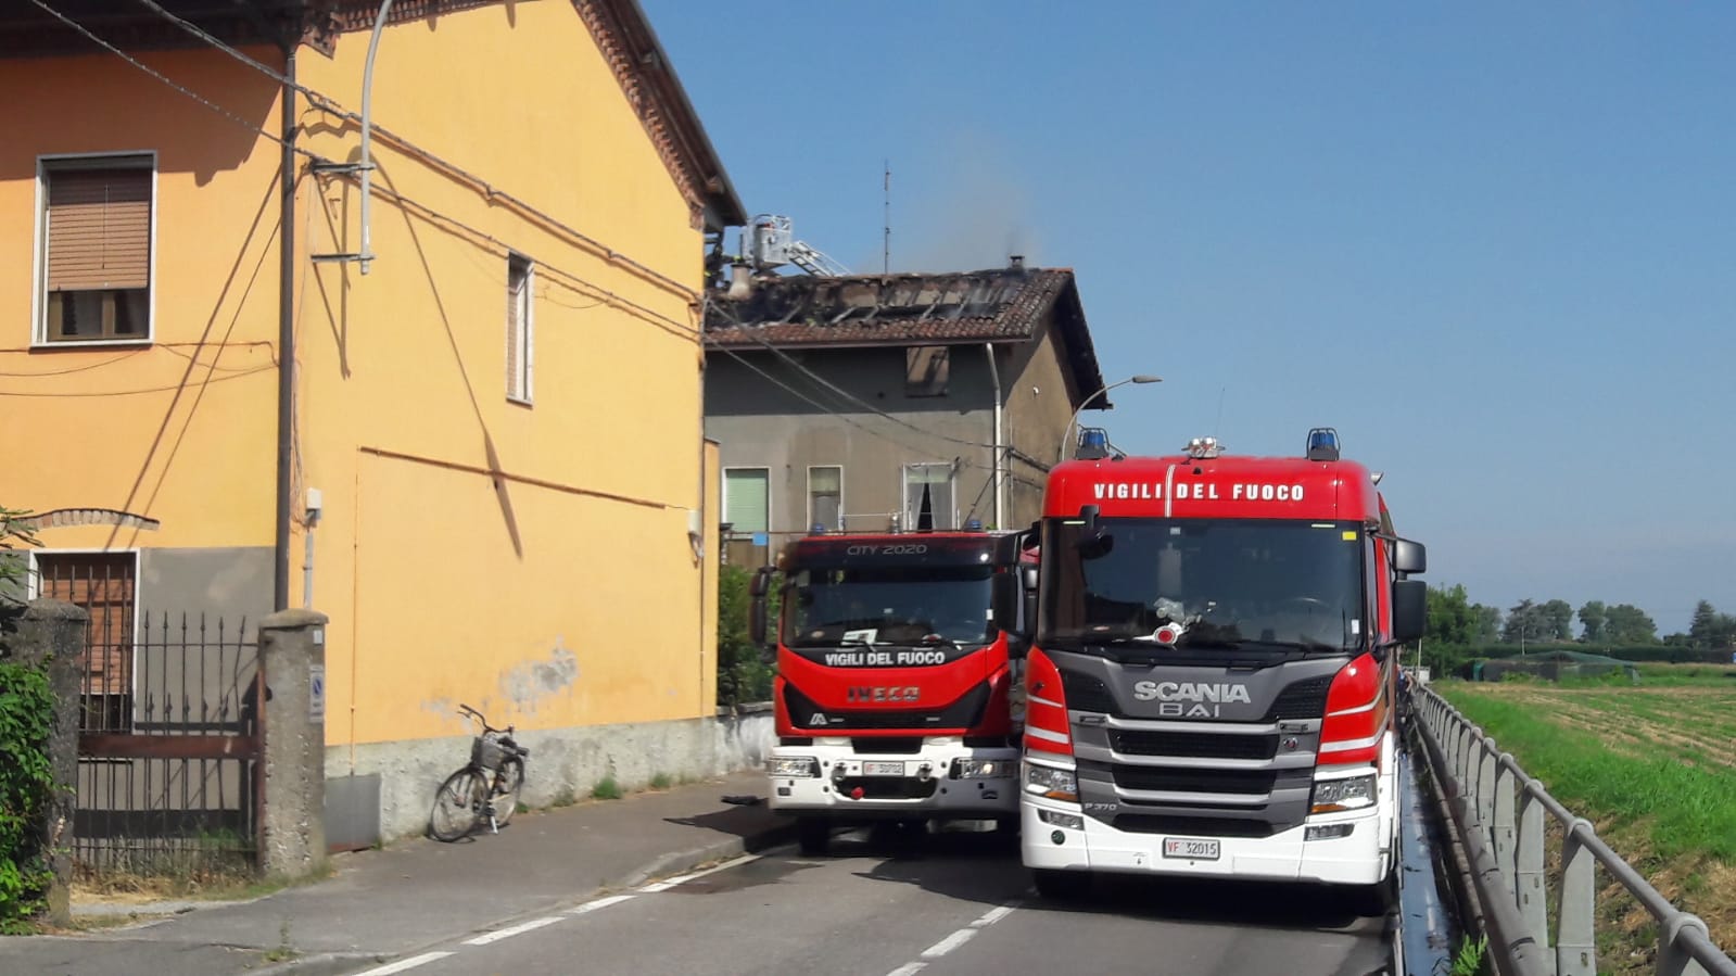
M 812 759 L 818 776 L 776 775 L 779 761 Z M 962 776 L 960 762 L 993 762 L 991 775 Z M 767 761 L 771 809 L 833 820 L 988 820 L 1019 809 L 1017 748 L 965 747 L 957 738 L 917 754 L 858 752 L 844 745 L 778 745 Z

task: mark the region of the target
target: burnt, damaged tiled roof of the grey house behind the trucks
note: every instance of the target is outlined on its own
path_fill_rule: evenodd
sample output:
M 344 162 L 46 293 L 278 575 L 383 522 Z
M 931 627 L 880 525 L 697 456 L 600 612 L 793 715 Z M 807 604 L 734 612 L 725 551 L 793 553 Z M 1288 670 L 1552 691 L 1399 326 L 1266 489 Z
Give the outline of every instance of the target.
M 705 339 L 729 349 L 1019 344 L 1038 333 L 1050 311 L 1075 389 L 1101 389 L 1097 351 L 1069 267 L 755 278 L 745 299 L 712 295 Z M 1101 405 L 1102 398 L 1094 401 Z

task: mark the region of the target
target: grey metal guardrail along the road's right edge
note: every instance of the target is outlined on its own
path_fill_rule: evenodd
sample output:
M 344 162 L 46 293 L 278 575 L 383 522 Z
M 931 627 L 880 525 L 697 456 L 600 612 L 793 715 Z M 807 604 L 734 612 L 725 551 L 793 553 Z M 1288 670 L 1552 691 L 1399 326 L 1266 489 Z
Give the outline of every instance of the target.
M 1411 703 L 1430 769 L 1470 861 L 1498 973 L 1597 976 L 1594 867 L 1602 865 L 1658 922 L 1658 976 L 1736 976 L 1736 960 L 1719 950 L 1700 917 L 1670 905 L 1597 837 L 1588 820 L 1549 795 L 1510 754 L 1496 752 L 1488 733 L 1429 688 L 1417 688 Z M 1562 830 L 1555 877 L 1545 877 L 1545 816 Z M 1559 905 L 1554 933 L 1550 893 Z

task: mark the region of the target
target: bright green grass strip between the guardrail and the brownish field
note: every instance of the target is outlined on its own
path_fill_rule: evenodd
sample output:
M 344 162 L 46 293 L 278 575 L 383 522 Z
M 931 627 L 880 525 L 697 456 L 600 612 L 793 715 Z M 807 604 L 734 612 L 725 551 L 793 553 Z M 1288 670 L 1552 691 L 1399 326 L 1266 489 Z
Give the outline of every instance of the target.
M 1550 710 L 1535 702 L 1512 702 L 1470 684 L 1443 686 L 1443 693 L 1575 813 L 1618 827 L 1644 825 L 1653 851 L 1663 858 L 1736 858 L 1736 804 L 1731 802 L 1736 769 L 1686 764 L 1686 750 L 1667 743 L 1649 755 L 1625 755 L 1608 748 L 1592 731 L 1555 724 Z M 1599 696 L 1597 709 L 1608 716 L 1611 729 L 1632 731 L 1635 721 L 1665 728 L 1680 722 L 1668 702 L 1639 691 Z M 1719 724 L 1733 722 L 1736 714 L 1726 710 Z

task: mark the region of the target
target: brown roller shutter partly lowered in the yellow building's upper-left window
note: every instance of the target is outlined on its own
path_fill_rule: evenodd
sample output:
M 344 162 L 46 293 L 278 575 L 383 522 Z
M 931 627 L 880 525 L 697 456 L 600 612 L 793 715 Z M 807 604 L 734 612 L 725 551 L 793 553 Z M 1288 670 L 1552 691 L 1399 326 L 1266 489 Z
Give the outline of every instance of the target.
M 49 174 L 49 292 L 148 288 L 151 170 Z

